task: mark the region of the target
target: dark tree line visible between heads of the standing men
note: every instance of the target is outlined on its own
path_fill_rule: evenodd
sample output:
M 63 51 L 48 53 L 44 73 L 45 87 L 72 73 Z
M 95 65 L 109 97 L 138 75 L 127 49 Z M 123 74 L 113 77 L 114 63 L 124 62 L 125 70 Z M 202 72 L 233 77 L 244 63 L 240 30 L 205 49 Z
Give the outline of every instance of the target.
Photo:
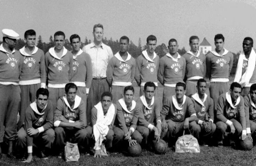
M 119 41 L 118 40 L 113 40 L 112 37 L 110 37 L 110 39 L 107 39 L 107 37 L 105 37 L 102 42 L 104 44 L 107 44 L 113 51 L 113 54 L 116 54 L 117 51 L 119 51 Z M 0 42 L 0 44 L 2 43 L 2 41 Z M 81 48 L 87 44 L 91 43 L 91 40 L 88 40 L 87 37 L 85 37 L 84 41 L 81 40 Z M 24 47 L 25 46 L 25 42 L 23 39 L 19 39 L 17 44 L 16 44 L 16 47 L 15 49 L 16 50 L 19 50 L 20 48 Z M 44 51 L 44 53 L 46 53 L 51 47 L 54 47 L 54 41 L 53 41 L 53 37 L 50 36 L 49 38 L 49 42 L 43 42 L 42 40 L 42 37 L 41 35 L 39 35 L 38 37 L 38 41 L 37 41 L 37 44 L 36 46 L 38 48 L 40 48 L 41 50 Z M 69 51 L 72 50 L 72 46 L 69 42 L 69 39 L 65 39 L 65 43 L 64 43 L 64 47 L 66 49 L 68 49 Z M 141 38 L 139 38 L 139 41 L 138 41 L 138 46 L 136 46 L 132 41 L 130 41 L 129 43 L 129 50 L 128 52 L 134 57 L 138 57 L 139 55 L 141 55 L 141 52 L 143 50 L 145 50 L 147 48 L 147 46 L 142 46 L 141 45 Z M 166 53 L 168 53 L 168 47 L 162 43 L 158 46 L 156 46 L 156 49 L 155 49 L 155 53 L 161 58 L 162 56 L 166 55 Z M 186 49 L 185 47 L 181 48 L 181 49 L 178 49 L 178 53 L 180 55 L 184 55 L 186 53 Z M 234 62 L 233 62 L 233 68 L 231 70 L 231 74 L 235 74 L 236 72 L 236 67 L 237 67 L 237 61 L 238 61 L 238 56 L 239 56 L 239 52 L 237 52 L 236 54 L 235 53 L 232 53 L 234 55 Z

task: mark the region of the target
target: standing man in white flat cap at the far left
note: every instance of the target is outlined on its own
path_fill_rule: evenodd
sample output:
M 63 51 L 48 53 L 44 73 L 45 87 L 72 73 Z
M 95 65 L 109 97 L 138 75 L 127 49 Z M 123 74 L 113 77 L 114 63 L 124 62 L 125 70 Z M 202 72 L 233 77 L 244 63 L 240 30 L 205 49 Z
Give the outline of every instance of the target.
M 15 51 L 19 34 L 3 29 L 3 43 L 0 45 L 0 144 L 8 140 L 8 157 L 13 157 L 12 145 L 17 133 L 17 114 L 20 104 L 20 54 Z M 5 126 L 5 131 L 4 131 Z M 2 151 L 0 146 L 0 158 Z

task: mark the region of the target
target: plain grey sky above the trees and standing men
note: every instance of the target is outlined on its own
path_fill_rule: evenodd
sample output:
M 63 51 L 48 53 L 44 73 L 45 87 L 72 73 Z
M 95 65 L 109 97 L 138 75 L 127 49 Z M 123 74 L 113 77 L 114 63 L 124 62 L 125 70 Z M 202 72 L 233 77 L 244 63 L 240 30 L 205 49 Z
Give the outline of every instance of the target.
M 256 0 L 0 0 L 0 15 L 0 29 L 13 29 L 21 38 L 34 29 L 43 42 L 58 30 L 68 39 L 76 33 L 93 41 L 97 23 L 107 39 L 126 35 L 137 45 L 140 37 L 142 46 L 151 34 L 157 45 L 175 38 L 186 50 L 192 35 L 199 43 L 206 37 L 215 48 L 214 36 L 222 33 L 224 47 L 234 53 L 242 50 L 244 37 L 256 41 Z

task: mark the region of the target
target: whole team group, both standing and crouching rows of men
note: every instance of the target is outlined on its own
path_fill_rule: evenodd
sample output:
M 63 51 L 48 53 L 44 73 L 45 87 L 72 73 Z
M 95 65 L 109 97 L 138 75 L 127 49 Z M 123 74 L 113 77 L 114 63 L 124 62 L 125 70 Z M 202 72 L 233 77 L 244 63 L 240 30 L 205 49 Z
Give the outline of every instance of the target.
M 215 35 L 216 48 L 207 55 L 199 52 L 197 36 L 190 37 L 191 49 L 183 56 L 177 40 L 170 39 L 169 52 L 161 59 L 154 52 L 157 39 L 149 35 L 147 49 L 136 60 L 128 53 L 127 36 L 120 38 L 120 50 L 113 56 L 102 43 L 101 24 L 94 25 L 94 41 L 82 49 L 79 35 L 71 35 L 71 51 L 64 47 L 65 34 L 56 32 L 55 47 L 45 55 L 35 46 L 32 29 L 25 32 L 26 45 L 20 50 L 15 50 L 19 34 L 11 29 L 2 34 L 0 143 L 5 138 L 8 157 L 16 146 L 16 157 L 27 152 L 23 162 L 30 162 L 34 143 L 41 158 L 47 159 L 52 147 L 62 158 L 66 141 L 101 157 L 137 143 L 147 148 L 160 138 L 173 145 L 184 130 L 201 145 L 214 141 L 222 146 L 226 132 L 233 147 L 239 139 L 255 138 L 256 54 L 251 37 L 243 41 L 230 85 L 233 54 L 224 48 L 222 34 Z M 136 102 L 134 79 L 140 86 Z M 162 101 L 158 82 L 164 85 Z

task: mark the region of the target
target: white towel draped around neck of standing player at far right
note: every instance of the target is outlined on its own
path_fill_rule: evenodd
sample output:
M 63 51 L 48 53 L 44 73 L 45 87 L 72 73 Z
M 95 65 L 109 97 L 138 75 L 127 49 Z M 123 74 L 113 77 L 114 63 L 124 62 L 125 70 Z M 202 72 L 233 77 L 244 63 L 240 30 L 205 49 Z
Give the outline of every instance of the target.
M 241 84 L 242 87 L 249 84 L 249 81 L 251 79 L 251 76 L 253 74 L 254 68 L 255 68 L 255 62 L 256 62 L 256 53 L 254 49 L 251 49 L 251 53 L 248 60 L 247 70 L 242 75 L 242 68 L 243 68 L 243 60 L 246 59 L 244 55 L 244 51 L 241 52 L 239 55 L 237 68 L 236 68 L 236 75 L 234 82 L 238 82 Z

